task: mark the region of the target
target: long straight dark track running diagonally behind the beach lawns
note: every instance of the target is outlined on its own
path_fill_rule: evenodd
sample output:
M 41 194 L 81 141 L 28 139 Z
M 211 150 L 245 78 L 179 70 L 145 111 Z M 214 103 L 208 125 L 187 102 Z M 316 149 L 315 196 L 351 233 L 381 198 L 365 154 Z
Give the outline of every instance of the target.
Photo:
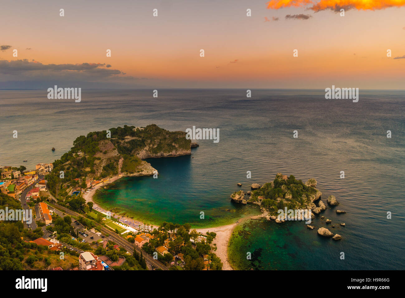
M 57 204 L 52 204 L 51 206 L 55 206 L 55 208 L 57 208 L 58 210 L 60 210 L 61 212 L 69 215 L 69 216 L 74 216 L 74 217 L 83 217 L 83 214 L 79 214 L 77 212 L 74 212 L 70 209 L 65 209 L 62 206 L 59 206 Z M 118 236 L 117 234 L 115 234 L 114 231 L 112 231 L 111 229 L 108 229 L 106 227 L 104 227 L 103 225 L 100 225 L 98 223 L 96 223 L 95 221 L 92 221 L 103 234 L 108 234 L 109 237 L 115 242 L 117 243 L 119 246 L 124 247 L 124 249 L 126 249 L 126 251 L 128 251 L 129 253 L 133 254 L 134 253 L 134 249 L 138 252 L 141 253 L 141 249 L 139 247 L 135 247 L 134 244 L 128 242 L 127 240 L 125 240 L 124 238 L 122 238 L 121 236 Z M 155 266 L 156 268 L 162 269 L 162 270 L 168 270 L 168 268 L 166 266 L 164 266 L 164 264 L 162 264 L 161 262 L 159 262 L 156 259 L 153 259 L 153 257 L 151 257 L 150 255 L 143 253 L 143 257 L 145 258 L 145 261 L 153 266 Z

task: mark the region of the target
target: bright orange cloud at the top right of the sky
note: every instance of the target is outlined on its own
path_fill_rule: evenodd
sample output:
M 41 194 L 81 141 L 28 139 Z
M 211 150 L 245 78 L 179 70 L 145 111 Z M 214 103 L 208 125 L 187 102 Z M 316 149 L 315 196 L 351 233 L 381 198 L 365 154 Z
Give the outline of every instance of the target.
M 313 11 L 322 11 L 331 9 L 339 11 L 343 9 L 357 9 L 357 10 L 375 10 L 385 9 L 388 7 L 401 7 L 405 6 L 405 0 L 271 0 L 267 2 L 267 8 L 280 9 L 283 7 L 302 7 L 308 6 Z

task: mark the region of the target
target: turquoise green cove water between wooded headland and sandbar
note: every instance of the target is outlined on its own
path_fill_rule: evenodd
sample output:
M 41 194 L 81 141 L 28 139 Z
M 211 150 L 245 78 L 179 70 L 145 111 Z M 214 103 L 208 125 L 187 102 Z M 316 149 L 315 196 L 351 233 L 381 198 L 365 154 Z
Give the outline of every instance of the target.
M 259 214 L 258 208 L 232 203 L 226 188 L 210 188 L 204 181 L 194 179 L 202 169 L 198 166 L 198 150 L 193 149 L 191 156 L 147 159 L 158 169 L 157 179 L 121 178 L 107 189 L 98 189 L 94 201 L 109 210 L 116 208 L 115 213 L 156 225 L 168 221 L 214 227 Z

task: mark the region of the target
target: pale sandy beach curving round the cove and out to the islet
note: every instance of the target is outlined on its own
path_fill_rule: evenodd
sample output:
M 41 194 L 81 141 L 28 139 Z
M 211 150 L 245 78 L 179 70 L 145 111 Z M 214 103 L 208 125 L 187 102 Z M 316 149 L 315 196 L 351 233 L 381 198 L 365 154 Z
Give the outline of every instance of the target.
M 94 189 L 90 190 L 87 194 L 83 195 L 83 198 L 86 200 L 86 202 L 93 202 L 93 204 L 94 204 L 93 208 L 96 207 L 95 208 L 96 210 L 98 210 L 98 211 L 104 210 L 103 208 L 98 206 L 93 201 L 92 198 L 93 198 L 94 193 L 96 193 L 96 190 L 99 189 L 100 187 L 104 187 L 107 184 L 114 182 L 114 181 L 118 180 L 119 178 L 122 178 L 123 176 L 124 175 L 117 175 L 117 176 L 112 177 L 106 183 L 97 184 L 94 187 Z M 105 210 L 105 211 L 107 211 L 107 210 Z M 230 236 L 231 236 L 234 228 L 247 219 L 258 219 L 260 217 L 266 216 L 267 213 L 268 212 L 264 212 L 263 214 L 259 214 L 259 215 L 243 217 L 243 218 L 239 219 L 236 223 L 231 223 L 229 225 L 223 225 L 220 227 L 196 229 L 196 230 L 197 230 L 197 232 L 200 232 L 204 235 L 206 235 L 207 232 L 214 232 L 217 234 L 217 236 L 213 240 L 212 244 L 216 244 L 217 250 L 215 251 L 215 254 L 221 259 L 222 264 L 224 264 L 224 266 L 222 267 L 222 270 L 233 270 L 232 266 L 230 265 L 230 263 L 228 261 L 228 241 L 230 239 Z M 123 220 L 132 222 L 134 225 L 139 225 L 140 223 L 142 223 L 141 221 L 137 221 L 136 219 L 129 219 L 129 218 L 125 218 L 125 217 L 121 217 L 121 218 Z M 158 227 L 153 226 L 153 228 L 158 228 Z

